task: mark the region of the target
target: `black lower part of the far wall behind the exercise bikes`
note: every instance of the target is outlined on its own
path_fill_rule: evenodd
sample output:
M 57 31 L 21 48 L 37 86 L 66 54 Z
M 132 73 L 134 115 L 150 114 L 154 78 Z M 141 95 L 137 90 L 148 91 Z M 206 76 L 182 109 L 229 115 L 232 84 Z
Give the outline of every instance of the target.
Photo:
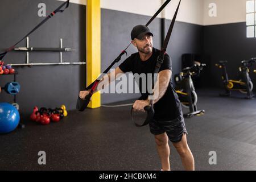
M 242 60 L 256 56 L 256 39 L 246 38 L 246 23 L 230 23 L 204 27 L 204 54 L 209 72 L 204 84 L 221 87 L 221 70 L 214 66 L 219 60 L 227 60 L 229 78 L 237 78 Z M 254 85 L 256 65 L 251 67 L 250 76 Z M 207 81 L 208 79 L 208 81 Z M 210 81 L 209 81 L 210 80 Z

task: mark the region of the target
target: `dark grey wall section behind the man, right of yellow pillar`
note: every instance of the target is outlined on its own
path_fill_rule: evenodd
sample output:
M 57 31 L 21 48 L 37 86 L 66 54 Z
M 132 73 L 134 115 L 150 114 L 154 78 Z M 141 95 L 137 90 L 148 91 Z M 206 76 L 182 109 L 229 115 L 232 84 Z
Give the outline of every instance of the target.
M 150 16 L 125 13 L 114 10 L 101 10 L 101 71 L 104 71 L 119 55 L 119 53 L 130 43 L 131 29 L 137 24 L 146 24 Z M 166 20 L 166 32 L 170 26 L 171 20 Z M 156 18 L 154 22 L 148 26 L 154 34 L 153 44 L 155 48 L 160 49 L 161 42 L 161 23 Z M 181 55 L 183 53 L 203 53 L 203 26 L 195 24 L 176 22 L 167 53 L 172 58 L 173 75 L 180 72 Z M 137 52 L 137 49 L 131 45 L 127 49 L 128 56 Z M 119 63 L 115 64 L 116 68 L 126 56 L 122 57 Z M 115 101 L 128 100 L 138 98 L 139 94 L 102 94 L 102 103 L 110 103 Z

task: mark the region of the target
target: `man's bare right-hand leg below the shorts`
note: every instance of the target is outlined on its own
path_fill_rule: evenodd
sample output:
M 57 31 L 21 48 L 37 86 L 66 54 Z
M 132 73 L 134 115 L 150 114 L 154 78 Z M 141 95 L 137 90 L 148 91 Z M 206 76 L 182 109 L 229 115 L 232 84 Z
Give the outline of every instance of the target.
M 180 142 L 172 142 L 181 157 L 182 164 L 186 170 L 195 170 L 195 162 L 191 150 L 188 147 L 187 135 L 183 134 Z

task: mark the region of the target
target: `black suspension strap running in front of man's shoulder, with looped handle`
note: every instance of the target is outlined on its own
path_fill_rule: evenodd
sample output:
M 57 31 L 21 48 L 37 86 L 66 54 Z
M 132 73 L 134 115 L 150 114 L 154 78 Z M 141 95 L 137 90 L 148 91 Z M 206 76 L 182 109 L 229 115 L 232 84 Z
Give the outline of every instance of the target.
M 181 0 L 180 0 L 181 2 Z M 163 47 L 162 47 L 162 50 L 160 51 L 159 55 L 158 55 L 158 59 L 156 61 L 156 65 L 155 65 L 155 70 L 154 70 L 154 74 L 152 77 L 154 77 L 155 74 L 158 74 L 159 72 L 159 69 L 163 63 L 163 60 L 164 60 L 164 55 L 166 54 L 166 48 L 168 46 L 168 43 L 169 43 L 169 40 L 170 40 L 170 37 L 171 37 L 171 34 L 172 34 L 172 29 L 174 28 L 174 23 L 175 23 L 175 19 L 176 19 L 176 16 L 177 16 L 177 13 L 179 11 L 179 7 L 180 7 L 180 2 L 179 2 L 179 5 L 177 6 L 177 9 L 175 11 L 175 14 L 174 14 L 174 18 L 172 19 L 172 22 L 170 24 L 170 27 L 169 27 L 169 30 L 167 32 L 167 35 L 166 35 L 166 38 L 164 39 L 164 43 L 163 43 Z M 154 86 L 155 86 L 155 79 L 152 80 L 152 88 L 154 89 Z M 154 93 L 153 93 L 154 94 Z M 152 95 L 152 94 L 150 94 Z M 150 106 L 146 106 L 144 107 L 144 110 L 147 111 L 147 117 L 146 119 L 144 120 L 144 123 L 141 125 L 139 123 L 135 123 L 135 126 L 137 127 L 142 127 L 142 126 L 145 126 L 147 125 L 150 121 L 152 121 L 153 117 L 154 117 L 154 105 L 153 105 L 153 100 L 150 100 Z M 133 107 L 131 108 L 131 119 L 133 120 Z

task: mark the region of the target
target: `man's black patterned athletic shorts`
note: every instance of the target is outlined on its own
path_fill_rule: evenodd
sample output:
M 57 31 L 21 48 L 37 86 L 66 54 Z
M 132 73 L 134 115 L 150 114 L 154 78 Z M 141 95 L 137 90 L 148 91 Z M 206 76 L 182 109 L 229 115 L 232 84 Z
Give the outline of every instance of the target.
M 180 142 L 183 134 L 187 134 L 183 115 L 181 114 L 171 121 L 156 121 L 153 119 L 150 123 L 150 132 L 154 135 L 160 135 L 166 132 L 171 142 Z

